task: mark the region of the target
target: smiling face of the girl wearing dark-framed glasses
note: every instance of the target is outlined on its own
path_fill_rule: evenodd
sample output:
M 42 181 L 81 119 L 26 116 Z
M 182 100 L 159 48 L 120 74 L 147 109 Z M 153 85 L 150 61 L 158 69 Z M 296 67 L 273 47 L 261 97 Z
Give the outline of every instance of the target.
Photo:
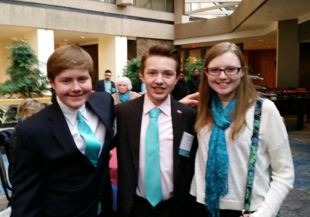
M 212 59 L 208 68 L 225 69 L 227 67 L 241 67 L 237 55 L 227 51 Z M 237 87 L 240 85 L 241 78 L 244 76 L 244 69 L 241 67 L 240 72 L 236 75 L 226 75 L 223 71 L 219 75 L 209 75 L 204 69 L 208 78 L 210 87 L 218 94 L 222 102 L 230 102 L 236 95 Z

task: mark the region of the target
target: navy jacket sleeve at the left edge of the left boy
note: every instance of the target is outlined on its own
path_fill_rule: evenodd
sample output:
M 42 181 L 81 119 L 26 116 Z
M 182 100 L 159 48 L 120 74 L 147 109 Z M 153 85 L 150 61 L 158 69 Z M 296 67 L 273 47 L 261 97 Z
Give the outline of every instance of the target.
M 11 180 L 11 217 L 40 216 L 43 161 L 22 125 L 17 126 L 16 134 L 16 170 Z

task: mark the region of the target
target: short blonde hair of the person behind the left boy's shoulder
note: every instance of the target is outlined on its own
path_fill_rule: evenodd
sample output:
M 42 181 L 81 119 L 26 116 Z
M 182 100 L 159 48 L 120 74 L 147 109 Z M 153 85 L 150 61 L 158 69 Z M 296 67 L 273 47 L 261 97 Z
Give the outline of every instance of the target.
M 44 108 L 44 104 L 35 99 L 24 99 L 17 107 L 16 119 L 22 118 L 25 120 Z

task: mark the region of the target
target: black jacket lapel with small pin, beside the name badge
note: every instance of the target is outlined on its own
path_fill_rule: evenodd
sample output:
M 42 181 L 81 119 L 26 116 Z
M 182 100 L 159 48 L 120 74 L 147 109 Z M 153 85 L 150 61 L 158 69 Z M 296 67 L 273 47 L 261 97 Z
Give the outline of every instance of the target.
M 186 117 L 179 108 L 178 102 L 171 98 L 171 118 L 173 128 L 173 180 L 177 180 L 179 169 L 179 145 L 186 127 Z

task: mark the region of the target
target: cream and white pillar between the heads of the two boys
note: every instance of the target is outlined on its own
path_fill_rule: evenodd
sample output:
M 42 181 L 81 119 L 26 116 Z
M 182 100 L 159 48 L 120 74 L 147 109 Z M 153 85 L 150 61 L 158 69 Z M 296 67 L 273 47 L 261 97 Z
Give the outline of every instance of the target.
M 111 80 L 122 75 L 127 64 L 127 37 L 105 35 L 98 38 L 98 79 L 104 79 L 105 70 L 112 72 Z

